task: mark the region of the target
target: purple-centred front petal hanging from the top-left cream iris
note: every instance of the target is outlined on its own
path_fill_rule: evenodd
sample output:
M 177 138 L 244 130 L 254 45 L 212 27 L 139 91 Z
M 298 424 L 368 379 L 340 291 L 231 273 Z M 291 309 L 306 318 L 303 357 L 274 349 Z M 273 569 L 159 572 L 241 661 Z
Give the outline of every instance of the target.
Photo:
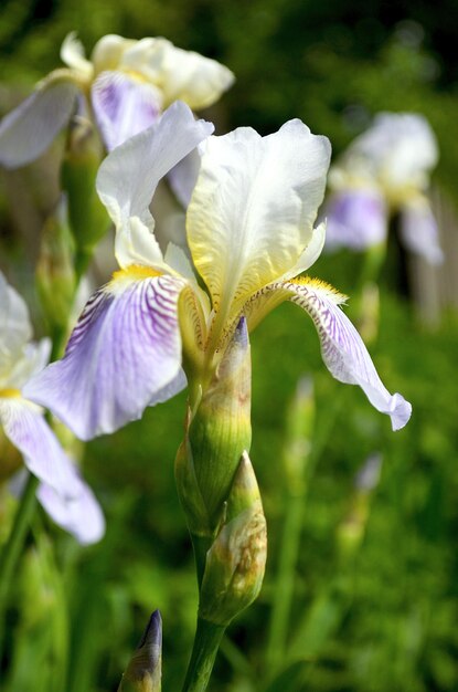
M 121 72 L 99 74 L 90 93 L 108 151 L 153 125 L 162 111 L 161 93 L 156 86 Z

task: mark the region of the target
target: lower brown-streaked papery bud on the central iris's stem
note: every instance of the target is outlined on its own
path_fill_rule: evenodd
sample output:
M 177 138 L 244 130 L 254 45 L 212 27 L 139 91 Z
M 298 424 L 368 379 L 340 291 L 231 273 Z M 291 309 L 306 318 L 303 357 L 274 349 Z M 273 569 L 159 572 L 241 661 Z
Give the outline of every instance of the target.
M 256 476 L 244 452 L 224 522 L 206 554 L 200 619 L 225 627 L 249 606 L 260 591 L 266 557 L 266 520 Z

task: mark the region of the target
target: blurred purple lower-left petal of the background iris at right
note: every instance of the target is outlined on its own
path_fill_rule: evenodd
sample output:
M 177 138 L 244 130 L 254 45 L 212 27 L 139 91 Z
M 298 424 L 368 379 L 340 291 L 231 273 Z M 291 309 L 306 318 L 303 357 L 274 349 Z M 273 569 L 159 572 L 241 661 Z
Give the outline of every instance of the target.
M 386 238 L 386 206 L 376 190 L 361 188 L 337 192 L 329 201 L 326 216 L 327 250 L 361 251 Z

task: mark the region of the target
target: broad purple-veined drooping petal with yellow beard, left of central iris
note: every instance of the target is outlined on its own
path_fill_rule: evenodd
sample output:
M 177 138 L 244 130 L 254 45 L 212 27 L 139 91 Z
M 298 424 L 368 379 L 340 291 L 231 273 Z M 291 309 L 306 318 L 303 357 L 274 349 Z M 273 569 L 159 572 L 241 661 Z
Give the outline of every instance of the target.
M 183 282 L 146 268 L 117 274 L 87 303 L 64 358 L 24 388 L 83 440 L 140 418 L 181 367 Z

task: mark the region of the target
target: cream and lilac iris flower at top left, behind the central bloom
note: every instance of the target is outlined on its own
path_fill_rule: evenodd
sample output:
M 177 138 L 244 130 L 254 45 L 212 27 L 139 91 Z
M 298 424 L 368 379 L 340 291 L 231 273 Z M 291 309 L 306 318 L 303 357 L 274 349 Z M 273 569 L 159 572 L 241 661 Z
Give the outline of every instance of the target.
M 90 61 L 74 33 L 54 70 L 0 123 L 0 162 L 9 168 L 36 159 L 72 116 L 94 114 L 107 150 L 158 120 L 177 98 L 204 108 L 231 86 L 227 67 L 162 38 L 134 41 L 106 35 Z

